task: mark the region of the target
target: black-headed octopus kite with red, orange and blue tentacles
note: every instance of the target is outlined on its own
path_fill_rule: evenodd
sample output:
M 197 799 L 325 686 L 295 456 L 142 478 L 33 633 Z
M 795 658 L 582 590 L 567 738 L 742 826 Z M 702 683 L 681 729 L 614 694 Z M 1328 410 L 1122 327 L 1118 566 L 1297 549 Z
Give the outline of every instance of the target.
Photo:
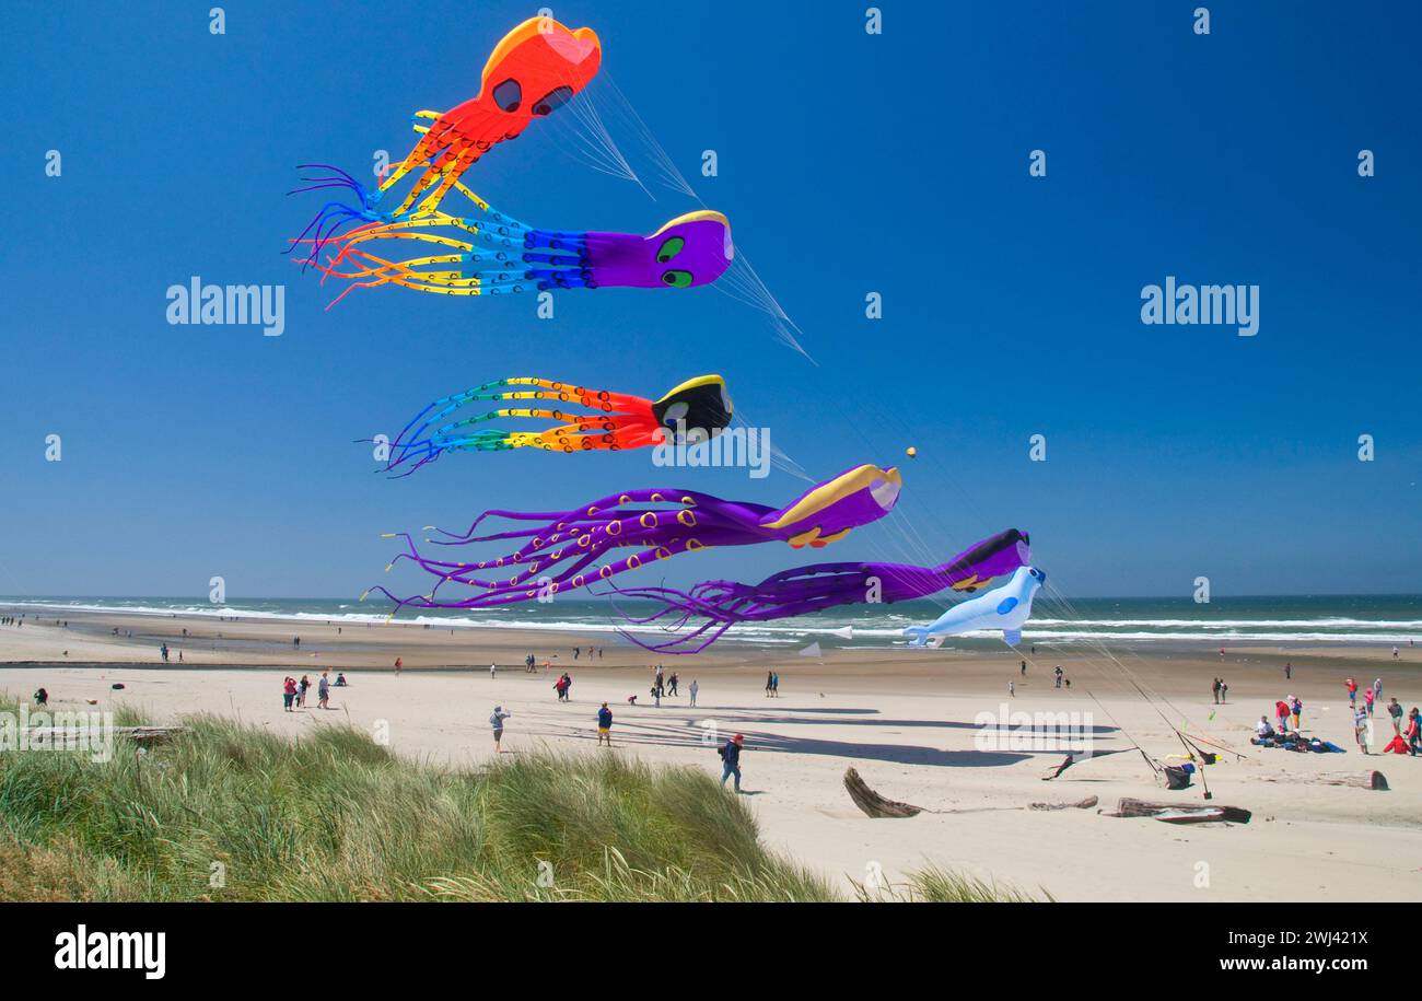
M 516 391 L 506 388 L 518 385 L 535 388 Z M 556 401 L 559 407 L 550 410 L 501 408 L 439 424 L 471 402 L 505 400 Z M 596 412 L 567 412 L 562 408 L 563 404 Z M 546 418 L 560 424 L 546 431 L 475 428 L 485 421 L 503 417 Z M 700 375 L 687 380 L 656 401 L 624 392 L 587 390 L 545 378 L 501 378 L 435 400 L 419 411 L 391 442 L 385 472 L 392 472 L 408 462 L 410 468 L 398 473 L 408 476 L 445 452 L 502 452 L 512 448 L 589 452 L 646 448 L 667 441 L 695 444 L 721 434 L 729 422 L 731 397 L 727 395 L 725 381 L 720 375 Z

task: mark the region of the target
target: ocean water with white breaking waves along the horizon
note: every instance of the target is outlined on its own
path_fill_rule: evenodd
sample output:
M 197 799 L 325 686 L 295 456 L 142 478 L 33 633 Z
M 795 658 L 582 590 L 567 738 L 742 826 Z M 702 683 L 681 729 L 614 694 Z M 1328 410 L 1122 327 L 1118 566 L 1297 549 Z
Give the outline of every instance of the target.
M 906 626 L 933 621 L 947 603 L 904 601 L 900 604 L 846 606 L 843 609 L 785 619 L 774 623 L 737 626 L 724 643 L 759 646 L 816 641 L 822 647 L 887 647 L 903 643 Z M 237 619 L 286 619 L 303 621 L 383 623 L 390 606 L 356 599 L 233 599 L 210 604 L 192 597 L 0 597 L 7 610 L 30 616 L 63 617 L 70 611 L 125 611 L 171 616 L 230 616 Z M 556 599 L 486 611 L 402 611 L 397 621 L 445 627 L 503 626 L 509 628 L 559 630 L 600 634 L 613 643 L 623 624 L 621 613 L 646 614 L 650 606 L 610 599 Z M 836 636 L 846 627 L 852 637 Z M 647 638 L 654 636 L 638 631 Z M 1422 643 L 1422 596 L 1281 596 L 1220 597 L 1207 604 L 1186 599 L 1059 599 L 1038 596 L 1032 619 L 1022 630 L 1027 643 L 1142 646 L 1162 643 L 1204 643 L 1229 646 L 1267 644 L 1378 644 Z M 657 637 L 665 638 L 665 637 Z M 1000 634 L 951 637 L 947 647 L 990 648 L 1001 646 Z

